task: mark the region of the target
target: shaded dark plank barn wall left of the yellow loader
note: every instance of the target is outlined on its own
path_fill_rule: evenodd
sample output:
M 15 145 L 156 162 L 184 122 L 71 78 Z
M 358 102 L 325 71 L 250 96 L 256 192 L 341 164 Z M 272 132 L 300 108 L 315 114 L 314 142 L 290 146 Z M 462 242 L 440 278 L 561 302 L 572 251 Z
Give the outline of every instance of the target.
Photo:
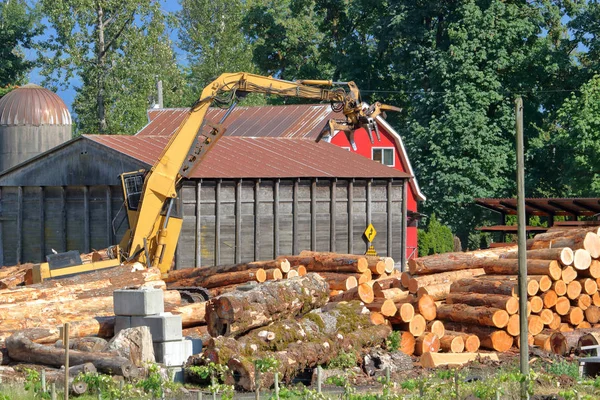
M 124 210 L 118 186 L 0 187 L 0 265 L 41 262 L 55 250 L 89 252 L 115 244 Z

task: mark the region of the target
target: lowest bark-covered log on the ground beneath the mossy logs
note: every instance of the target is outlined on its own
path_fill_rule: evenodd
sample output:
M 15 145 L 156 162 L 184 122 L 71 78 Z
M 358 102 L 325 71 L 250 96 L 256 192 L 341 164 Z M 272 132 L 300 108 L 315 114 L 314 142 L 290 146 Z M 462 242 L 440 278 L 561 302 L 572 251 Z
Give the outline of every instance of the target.
M 317 365 L 327 364 L 342 350 L 362 349 L 382 343 L 390 334 L 389 327 L 384 325 L 372 326 L 348 334 L 338 341 L 314 341 L 293 343 L 285 350 L 277 352 L 262 352 L 253 357 L 236 355 L 232 357 L 227 366 L 231 371 L 231 378 L 236 388 L 242 390 L 255 390 L 254 386 L 254 360 L 257 358 L 272 357 L 277 362 L 276 371 L 284 382 L 290 382 L 300 371 L 313 368 Z M 325 344 L 327 343 L 327 344 Z M 261 386 L 271 387 L 274 382 L 274 372 L 261 374 Z

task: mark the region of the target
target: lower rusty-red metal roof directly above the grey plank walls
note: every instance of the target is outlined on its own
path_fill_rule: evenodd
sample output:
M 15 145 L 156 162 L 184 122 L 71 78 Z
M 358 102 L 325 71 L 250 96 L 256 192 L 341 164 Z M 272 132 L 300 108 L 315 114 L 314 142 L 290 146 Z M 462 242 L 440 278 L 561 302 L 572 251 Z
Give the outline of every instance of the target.
M 158 135 L 84 135 L 153 165 L 169 141 Z M 144 149 L 140 151 L 140 149 Z M 333 144 L 307 139 L 224 136 L 190 178 L 410 178 Z

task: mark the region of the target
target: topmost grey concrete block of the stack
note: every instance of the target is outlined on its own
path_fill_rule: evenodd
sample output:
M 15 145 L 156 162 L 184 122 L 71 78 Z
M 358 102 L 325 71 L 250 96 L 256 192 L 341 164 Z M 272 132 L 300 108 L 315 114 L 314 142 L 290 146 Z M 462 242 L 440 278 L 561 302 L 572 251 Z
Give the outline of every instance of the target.
M 115 315 L 154 315 L 165 311 L 161 289 L 121 289 L 113 292 Z

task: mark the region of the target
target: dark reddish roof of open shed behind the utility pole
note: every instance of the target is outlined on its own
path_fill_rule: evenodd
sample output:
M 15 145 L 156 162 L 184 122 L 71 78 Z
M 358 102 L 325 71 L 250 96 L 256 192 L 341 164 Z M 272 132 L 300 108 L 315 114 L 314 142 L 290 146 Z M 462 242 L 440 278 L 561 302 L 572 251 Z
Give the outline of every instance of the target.
M 475 199 L 481 207 L 509 215 L 517 214 L 517 199 Z M 600 198 L 527 198 L 525 210 L 540 216 L 592 216 L 600 213 Z

